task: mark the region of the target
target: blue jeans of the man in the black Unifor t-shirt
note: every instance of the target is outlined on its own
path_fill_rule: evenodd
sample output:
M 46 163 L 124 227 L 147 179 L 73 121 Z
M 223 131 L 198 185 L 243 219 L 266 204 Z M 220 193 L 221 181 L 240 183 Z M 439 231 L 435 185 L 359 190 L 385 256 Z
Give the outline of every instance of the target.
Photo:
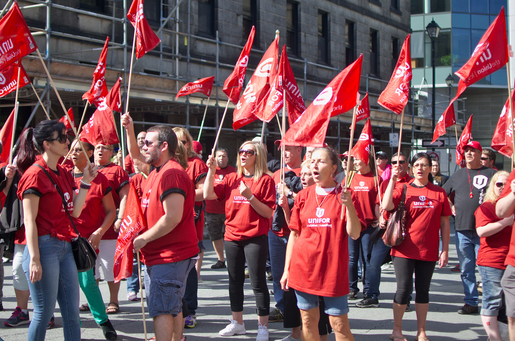
M 456 251 L 458 252 L 461 281 L 465 292 L 465 303 L 477 307 L 476 258 L 479 250 L 479 236 L 475 230 L 456 231 Z

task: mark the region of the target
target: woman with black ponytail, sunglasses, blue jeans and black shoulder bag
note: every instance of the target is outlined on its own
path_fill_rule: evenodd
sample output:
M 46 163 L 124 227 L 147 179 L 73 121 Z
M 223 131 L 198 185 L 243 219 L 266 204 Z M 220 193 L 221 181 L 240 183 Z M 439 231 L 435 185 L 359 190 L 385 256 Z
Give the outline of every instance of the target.
M 36 128 L 27 128 L 20 139 L 16 160 L 22 174 L 18 198 L 23 203 L 27 237 L 22 266 L 34 307 L 28 340 L 44 340 L 56 300 L 62 314 L 64 340 L 80 340 L 79 280 L 70 244 L 71 222 L 65 209 L 74 218 L 80 216 L 97 170 L 94 166 L 85 167 L 80 189 L 75 192 L 72 174 L 57 162 L 67 154 L 69 143 L 66 128 L 58 121 L 42 121 Z M 42 154 L 38 161 L 37 150 Z M 64 195 L 67 207 L 63 207 L 52 182 Z

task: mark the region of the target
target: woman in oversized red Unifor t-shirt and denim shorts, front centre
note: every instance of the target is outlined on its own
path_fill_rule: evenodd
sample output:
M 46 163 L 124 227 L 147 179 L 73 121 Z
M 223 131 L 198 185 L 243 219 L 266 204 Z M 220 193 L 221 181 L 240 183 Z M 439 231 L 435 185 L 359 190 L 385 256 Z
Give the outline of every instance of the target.
M 316 185 L 297 193 L 291 210 L 281 286 L 284 291 L 295 289 L 303 321 L 302 339 L 318 338 L 319 296 L 324 298 L 324 311 L 330 315 L 336 339 L 354 339 L 347 318 L 349 288 L 342 284 L 349 282 L 347 237 L 359 238 L 361 224 L 351 191 L 343 192 L 333 180 L 338 163 L 333 149 L 315 148 L 311 170 Z

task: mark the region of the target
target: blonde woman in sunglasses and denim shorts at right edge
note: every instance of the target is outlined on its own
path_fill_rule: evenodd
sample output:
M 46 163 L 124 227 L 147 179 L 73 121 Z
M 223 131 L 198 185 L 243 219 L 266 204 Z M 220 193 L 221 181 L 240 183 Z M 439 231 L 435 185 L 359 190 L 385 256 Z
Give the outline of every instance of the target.
M 474 213 L 476 232 L 481 237 L 476 261 L 483 280 L 481 320 L 491 340 L 501 339 L 497 325 L 504 296 L 501 279 L 506 269 L 504 261 L 510 248 L 513 229 L 513 216 L 501 219 L 495 214 L 495 202 L 503 192 L 508 176 L 506 171 L 499 171 L 492 176 L 483 204 Z

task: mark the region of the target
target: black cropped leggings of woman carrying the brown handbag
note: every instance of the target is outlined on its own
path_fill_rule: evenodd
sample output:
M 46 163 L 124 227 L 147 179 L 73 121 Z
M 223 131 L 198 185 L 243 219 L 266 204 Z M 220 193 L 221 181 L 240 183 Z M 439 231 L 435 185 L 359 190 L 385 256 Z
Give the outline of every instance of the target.
M 413 273 L 415 272 L 415 303 L 429 303 L 429 286 L 435 271 L 436 262 L 392 256 L 397 292 L 393 302 L 408 304 L 409 293 L 413 287 Z

